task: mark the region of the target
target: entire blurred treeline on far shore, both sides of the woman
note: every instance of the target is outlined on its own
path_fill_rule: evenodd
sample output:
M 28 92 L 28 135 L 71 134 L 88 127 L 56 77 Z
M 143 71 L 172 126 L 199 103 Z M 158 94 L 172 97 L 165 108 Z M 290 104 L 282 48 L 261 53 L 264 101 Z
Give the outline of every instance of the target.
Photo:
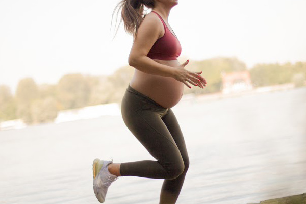
M 222 90 L 221 73 L 247 70 L 237 58 L 217 57 L 191 61 L 186 69 L 203 71 L 204 89 L 185 86 L 184 93 L 206 94 Z M 295 64 L 257 64 L 250 70 L 254 87 L 294 83 L 304 86 L 306 62 Z M 20 118 L 26 124 L 52 122 L 60 110 L 107 103 L 120 103 L 134 68 L 124 66 L 109 76 L 80 73 L 65 74 L 57 84 L 37 85 L 32 78 L 19 81 L 13 95 L 8 86 L 0 85 L 0 121 Z

